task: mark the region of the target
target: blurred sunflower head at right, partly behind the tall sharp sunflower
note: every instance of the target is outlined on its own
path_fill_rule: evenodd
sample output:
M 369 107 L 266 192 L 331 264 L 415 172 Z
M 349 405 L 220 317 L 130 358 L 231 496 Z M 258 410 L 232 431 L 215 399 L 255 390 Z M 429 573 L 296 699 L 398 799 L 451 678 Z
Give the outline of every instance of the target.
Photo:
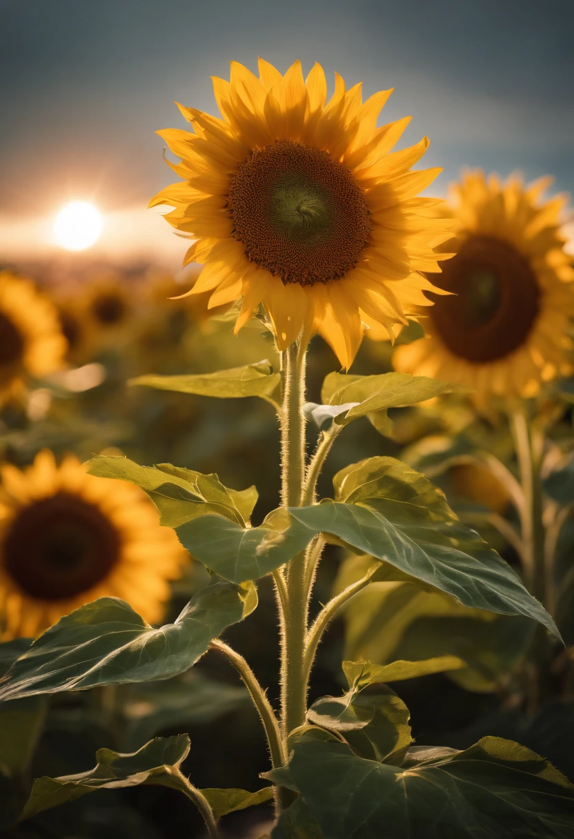
M 559 229 L 565 198 L 540 201 L 550 183 L 477 171 L 451 188 L 456 238 L 445 247 L 457 255 L 431 279 L 456 296 L 436 299 L 431 337 L 399 347 L 397 370 L 470 385 L 478 402 L 535 396 L 571 371 L 574 270 Z

